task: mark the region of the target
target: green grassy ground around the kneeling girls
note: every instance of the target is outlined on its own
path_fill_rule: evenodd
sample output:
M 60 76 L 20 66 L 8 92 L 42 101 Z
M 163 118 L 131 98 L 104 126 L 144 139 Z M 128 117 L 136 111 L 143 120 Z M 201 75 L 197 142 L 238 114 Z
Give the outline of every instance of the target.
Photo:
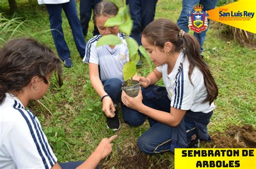
M 77 7 L 78 5 L 79 3 Z M 159 0 L 156 18 L 164 17 L 176 22 L 180 10 L 179 0 Z M 6 18 L 12 17 L 8 13 L 3 15 Z M 19 20 L 25 21 L 18 29 L 24 34 L 16 31 L 12 37 L 21 35 L 34 37 L 56 52 L 44 6 L 24 4 L 17 10 L 15 17 L 21 17 Z M 256 51 L 241 47 L 222 36 L 220 26 L 214 27 L 207 32 L 203 53 L 219 87 L 219 97 L 215 101 L 217 109 L 214 111 L 208 130 L 212 135 L 218 131 L 225 131 L 232 125 L 252 124 L 256 127 Z M 93 25 L 90 23 L 90 32 L 86 40 L 92 37 L 92 29 Z M 112 156 L 104 161 L 107 168 L 112 166 L 118 168 L 125 154 L 132 153 L 131 150 L 136 147 L 138 137 L 148 129 L 149 124 L 129 127 L 121 119 L 122 127 L 119 131 L 112 132 L 106 129 L 102 103 L 91 86 L 88 66 L 82 63 L 79 57 L 64 14 L 63 30 L 74 66 L 71 69 L 64 68 L 64 85 L 61 88 L 57 87 L 55 79 L 52 78 L 51 87 L 41 100 L 51 113 L 37 102 L 31 103 L 29 108 L 39 117 L 59 161 L 86 159 L 102 138 L 118 134 L 118 138 L 114 141 Z M 10 37 L 10 33 L 8 35 L 1 33 L 0 38 L 3 36 L 6 40 Z M 227 41 L 231 43 L 226 43 Z M 0 40 L 0 46 L 2 44 L 3 40 Z M 147 73 L 149 73 L 147 67 L 139 69 L 140 75 L 146 76 Z M 152 168 L 163 161 L 169 161 L 169 168 L 173 168 L 174 165 L 171 153 L 147 158 L 152 162 Z

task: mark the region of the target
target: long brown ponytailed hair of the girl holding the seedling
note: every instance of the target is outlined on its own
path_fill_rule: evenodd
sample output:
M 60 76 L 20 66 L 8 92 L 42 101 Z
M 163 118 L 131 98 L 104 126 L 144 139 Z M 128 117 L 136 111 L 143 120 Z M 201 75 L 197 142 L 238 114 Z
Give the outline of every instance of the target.
M 211 75 L 210 67 L 200 56 L 200 46 L 197 39 L 188 33 L 184 33 L 184 36 L 181 37 L 179 33 L 180 29 L 174 22 L 169 19 L 157 19 L 146 26 L 142 35 L 148 43 L 156 45 L 159 49 L 163 49 L 166 42 L 173 44 L 173 52 L 185 49 L 185 55 L 190 62 L 188 70 L 190 82 L 194 67 L 197 66 L 204 75 L 204 83 L 208 92 L 205 102 L 211 104 L 218 96 L 218 87 Z

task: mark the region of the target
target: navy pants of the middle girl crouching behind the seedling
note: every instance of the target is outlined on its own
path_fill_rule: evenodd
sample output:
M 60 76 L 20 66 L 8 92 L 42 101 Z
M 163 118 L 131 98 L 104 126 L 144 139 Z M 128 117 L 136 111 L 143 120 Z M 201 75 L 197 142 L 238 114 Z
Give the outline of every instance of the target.
M 104 86 L 104 90 L 107 94 L 109 94 L 114 104 L 121 103 L 121 94 L 122 94 L 122 80 L 117 78 L 103 80 L 102 84 Z M 130 126 L 139 126 L 144 123 L 146 116 L 142 113 L 137 113 L 131 111 L 129 107 L 126 107 L 123 103 L 121 103 L 121 108 L 123 111 L 123 119 L 125 123 Z

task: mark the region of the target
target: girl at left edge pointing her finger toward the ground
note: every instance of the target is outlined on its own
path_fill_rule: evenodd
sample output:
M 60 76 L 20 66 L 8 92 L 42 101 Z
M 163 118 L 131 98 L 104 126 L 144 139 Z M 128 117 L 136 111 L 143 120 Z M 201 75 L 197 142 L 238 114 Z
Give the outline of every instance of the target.
M 0 168 L 96 168 L 112 151 L 104 138 L 86 161 L 58 164 L 39 120 L 26 110 L 41 99 L 53 72 L 62 85 L 62 65 L 55 54 L 33 39 L 11 40 L 0 50 Z

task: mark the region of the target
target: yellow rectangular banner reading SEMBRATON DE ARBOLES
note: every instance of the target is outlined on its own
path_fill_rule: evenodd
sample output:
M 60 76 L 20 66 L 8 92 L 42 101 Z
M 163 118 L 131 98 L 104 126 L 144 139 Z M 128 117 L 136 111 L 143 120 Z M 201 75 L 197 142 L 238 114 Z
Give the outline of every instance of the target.
M 256 169 L 256 148 L 175 148 L 175 169 Z

